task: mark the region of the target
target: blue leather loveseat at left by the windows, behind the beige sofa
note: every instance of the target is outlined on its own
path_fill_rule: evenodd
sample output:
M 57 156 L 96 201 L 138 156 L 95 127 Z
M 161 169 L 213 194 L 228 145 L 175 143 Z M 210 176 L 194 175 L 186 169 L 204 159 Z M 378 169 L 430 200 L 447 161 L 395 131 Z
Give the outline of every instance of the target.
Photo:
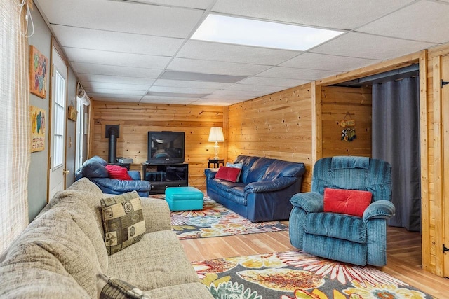
M 106 165 L 107 162 L 103 158 L 95 155 L 91 159 L 86 160 L 83 166 L 76 170 L 75 180 L 86 177 L 100 187 L 103 193 L 122 194 L 137 191 L 140 197 L 148 197 L 150 184 L 149 181 L 140 181 L 140 172 L 137 170 L 128 171 L 128 175 L 133 179 L 132 181 L 111 179 L 105 167 Z

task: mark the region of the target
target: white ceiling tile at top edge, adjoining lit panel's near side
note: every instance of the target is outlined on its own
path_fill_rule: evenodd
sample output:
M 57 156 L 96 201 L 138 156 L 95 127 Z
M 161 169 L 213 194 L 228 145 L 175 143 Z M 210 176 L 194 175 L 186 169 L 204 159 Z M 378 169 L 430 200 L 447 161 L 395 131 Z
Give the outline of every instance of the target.
M 211 11 L 335 29 L 354 29 L 413 0 L 218 0 Z

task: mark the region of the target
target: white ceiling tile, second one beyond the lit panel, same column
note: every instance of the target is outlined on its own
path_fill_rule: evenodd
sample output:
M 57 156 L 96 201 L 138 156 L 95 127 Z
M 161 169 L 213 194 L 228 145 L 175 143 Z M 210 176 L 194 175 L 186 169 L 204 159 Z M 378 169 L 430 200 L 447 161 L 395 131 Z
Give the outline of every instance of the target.
M 203 74 L 252 76 L 269 69 L 269 67 L 257 64 L 175 58 L 170 62 L 167 69 L 173 71 L 194 71 Z

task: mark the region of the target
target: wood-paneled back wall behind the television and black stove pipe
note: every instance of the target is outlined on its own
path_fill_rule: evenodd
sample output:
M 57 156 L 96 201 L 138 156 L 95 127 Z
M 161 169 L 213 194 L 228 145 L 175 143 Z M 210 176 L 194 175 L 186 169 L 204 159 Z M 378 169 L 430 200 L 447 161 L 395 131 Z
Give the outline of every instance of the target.
M 106 125 L 120 125 L 117 156 L 133 158 L 131 169 L 142 172 L 147 160 L 148 131 L 185 132 L 185 162 L 189 164 L 189 186 L 206 189 L 204 169 L 213 158 L 212 142 L 208 142 L 210 127 L 222 127 L 227 116 L 226 106 L 196 106 L 170 104 L 138 104 L 92 101 L 91 142 L 89 157 L 99 155 L 107 160 Z M 226 153 L 220 144 L 220 156 Z

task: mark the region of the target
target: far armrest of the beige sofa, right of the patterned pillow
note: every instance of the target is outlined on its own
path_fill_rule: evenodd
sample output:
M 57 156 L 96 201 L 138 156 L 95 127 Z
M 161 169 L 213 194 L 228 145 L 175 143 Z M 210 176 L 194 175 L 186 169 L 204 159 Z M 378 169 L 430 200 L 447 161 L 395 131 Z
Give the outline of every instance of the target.
M 170 209 L 165 200 L 140 197 L 147 232 L 171 230 Z

